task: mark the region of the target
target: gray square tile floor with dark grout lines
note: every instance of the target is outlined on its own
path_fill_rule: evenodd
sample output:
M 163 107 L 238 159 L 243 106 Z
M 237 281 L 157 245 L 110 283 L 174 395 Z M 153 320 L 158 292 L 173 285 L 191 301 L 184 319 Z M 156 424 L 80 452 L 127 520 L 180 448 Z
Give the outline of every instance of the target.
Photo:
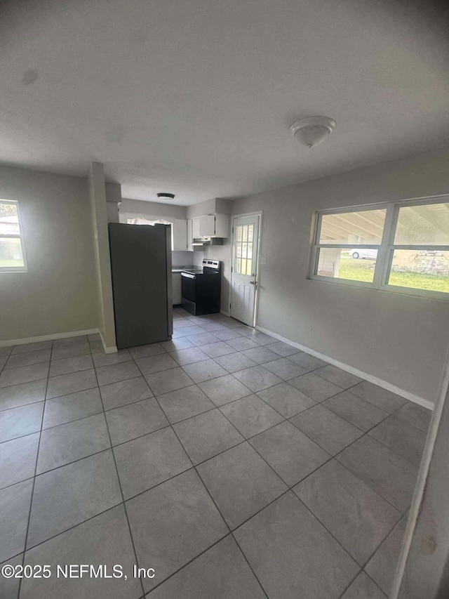
M 174 318 L 116 354 L 0 348 L 0 562 L 52 568 L 1 598 L 385 598 L 430 412 L 228 317 Z

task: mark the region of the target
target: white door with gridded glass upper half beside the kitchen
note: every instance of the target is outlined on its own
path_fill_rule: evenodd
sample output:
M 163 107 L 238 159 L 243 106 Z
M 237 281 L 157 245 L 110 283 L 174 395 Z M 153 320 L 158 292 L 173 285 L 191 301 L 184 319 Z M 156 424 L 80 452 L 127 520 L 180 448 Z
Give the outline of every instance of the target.
M 255 325 L 260 215 L 232 220 L 231 316 Z

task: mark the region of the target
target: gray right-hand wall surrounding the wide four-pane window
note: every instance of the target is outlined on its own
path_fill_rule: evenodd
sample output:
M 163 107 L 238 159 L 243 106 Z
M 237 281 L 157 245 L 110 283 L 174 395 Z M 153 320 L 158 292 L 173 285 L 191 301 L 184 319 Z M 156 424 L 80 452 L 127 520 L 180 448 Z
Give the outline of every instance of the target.
M 267 263 L 257 324 L 434 401 L 449 340 L 448 303 L 313 281 L 307 272 L 314 211 L 445 193 L 449 151 L 237 199 L 234 214 L 263 210 Z M 229 271 L 230 251 L 220 259 Z

